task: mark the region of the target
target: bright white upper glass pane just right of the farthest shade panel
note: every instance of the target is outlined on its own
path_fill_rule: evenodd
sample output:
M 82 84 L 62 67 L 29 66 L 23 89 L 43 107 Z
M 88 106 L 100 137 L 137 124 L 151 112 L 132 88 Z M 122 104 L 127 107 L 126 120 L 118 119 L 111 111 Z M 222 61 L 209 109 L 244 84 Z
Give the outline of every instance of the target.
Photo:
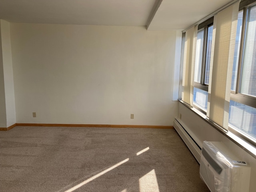
M 203 56 L 203 43 L 204 43 L 204 30 L 197 33 L 196 41 L 196 63 L 195 63 L 195 77 L 194 81 L 200 83 L 201 81 L 201 68 Z

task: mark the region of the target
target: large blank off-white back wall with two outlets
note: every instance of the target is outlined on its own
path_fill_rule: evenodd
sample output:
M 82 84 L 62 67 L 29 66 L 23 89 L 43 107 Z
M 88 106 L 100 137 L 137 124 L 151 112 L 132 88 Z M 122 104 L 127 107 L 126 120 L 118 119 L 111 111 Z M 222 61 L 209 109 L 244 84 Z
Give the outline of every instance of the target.
M 20 23 L 10 29 L 17 123 L 173 124 L 176 32 Z

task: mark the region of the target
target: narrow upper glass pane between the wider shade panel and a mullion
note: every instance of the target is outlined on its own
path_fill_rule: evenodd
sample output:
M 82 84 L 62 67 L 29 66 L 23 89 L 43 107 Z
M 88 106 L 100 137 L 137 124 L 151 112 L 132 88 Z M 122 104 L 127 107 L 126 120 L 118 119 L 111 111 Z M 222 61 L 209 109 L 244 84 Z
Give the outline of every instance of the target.
M 240 42 L 241 42 L 241 34 L 242 34 L 243 13 L 244 13 L 243 11 L 238 13 L 238 20 L 237 20 L 236 45 L 235 45 L 232 82 L 231 82 L 231 90 L 233 91 L 236 91 L 236 80 L 237 80 L 238 60 L 239 60 Z

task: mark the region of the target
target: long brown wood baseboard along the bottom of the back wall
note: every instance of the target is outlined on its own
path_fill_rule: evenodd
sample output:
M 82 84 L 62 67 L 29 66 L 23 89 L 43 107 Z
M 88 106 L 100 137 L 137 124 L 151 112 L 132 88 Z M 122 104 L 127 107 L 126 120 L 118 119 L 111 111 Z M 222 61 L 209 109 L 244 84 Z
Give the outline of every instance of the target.
M 16 123 L 16 126 L 45 126 L 45 127 L 110 127 L 110 128 L 157 128 L 173 129 L 173 126 L 158 125 L 108 125 L 108 124 L 37 124 L 37 123 Z

